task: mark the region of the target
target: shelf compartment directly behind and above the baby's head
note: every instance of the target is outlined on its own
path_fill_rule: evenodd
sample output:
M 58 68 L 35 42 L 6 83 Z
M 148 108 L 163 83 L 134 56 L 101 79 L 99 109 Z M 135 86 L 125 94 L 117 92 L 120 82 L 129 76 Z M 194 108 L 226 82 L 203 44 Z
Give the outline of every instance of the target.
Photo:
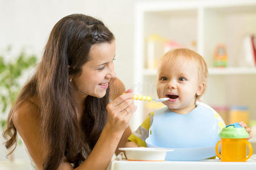
M 144 67 L 156 67 L 159 58 L 175 45 L 191 48 L 192 44 L 196 44 L 197 20 L 196 8 L 144 12 Z M 167 42 L 172 44 L 168 48 L 165 47 Z M 196 49 L 196 46 L 193 48 Z

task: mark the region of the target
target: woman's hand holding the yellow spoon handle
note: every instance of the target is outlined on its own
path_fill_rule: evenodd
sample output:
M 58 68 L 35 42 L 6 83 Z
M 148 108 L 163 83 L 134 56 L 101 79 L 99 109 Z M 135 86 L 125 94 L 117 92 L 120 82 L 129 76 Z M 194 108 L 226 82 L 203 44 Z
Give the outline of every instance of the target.
M 113 132 L 123 133 L 129 126 L 130 118 L 137 109 L 133 103 L 133 96 L 133 91 L 129 89 L 107 105 L 108 122 L 106 126 L 108 125 Z

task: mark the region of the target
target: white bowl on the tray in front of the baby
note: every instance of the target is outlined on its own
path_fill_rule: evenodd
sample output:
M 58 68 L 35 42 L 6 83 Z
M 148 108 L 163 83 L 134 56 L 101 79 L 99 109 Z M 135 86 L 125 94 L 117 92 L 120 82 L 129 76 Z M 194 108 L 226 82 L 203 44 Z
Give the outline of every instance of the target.
M 127 160 L 141 161 L 164 161 L 167 151 L 173 151 L 165 148 L 148 148 L 148 147 L 123 147 L 119 148 L 125 151 Z

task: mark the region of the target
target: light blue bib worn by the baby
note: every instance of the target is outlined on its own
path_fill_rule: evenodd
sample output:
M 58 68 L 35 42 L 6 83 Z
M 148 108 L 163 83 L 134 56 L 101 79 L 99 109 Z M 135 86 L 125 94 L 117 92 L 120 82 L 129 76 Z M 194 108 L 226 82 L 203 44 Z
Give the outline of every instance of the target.
M 208 148 L 208 153 L 201 154 L 199 155 L 201 157 L 198 158 L 205 159 L 216 155 L 214 148 L 220 140 L 219 131 L 220 127 L 217 125 L 214 112 L 209 108 L 197 105 L 192 112 L 177 114 L 164 107 L 154 112 L 146 143 L 149 145 L 148 147 Z M 169 158 L 167 160 L 183 160 L 182 158 L 184 158 L 183 155 L 181 155 L 181 159 Z M 184 160 L 190 159 L 197 160 L 192 158 Z

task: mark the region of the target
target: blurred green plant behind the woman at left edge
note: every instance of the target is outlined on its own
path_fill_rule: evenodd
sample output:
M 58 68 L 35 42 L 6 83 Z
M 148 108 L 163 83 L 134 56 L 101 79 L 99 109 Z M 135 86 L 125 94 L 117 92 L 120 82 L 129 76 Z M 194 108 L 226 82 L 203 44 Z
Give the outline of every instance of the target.
M 11 46 L 0 54 L 0 125 L 5 129 L 6 117 L 13 106 L 19 91 L 22 88 L 20 78 L 23 78 L 24 71 L 35 66 L 37 57 L 28 55 L 22 50 L 18 56 L 11 56 Z M 8 59 L 6 59 L 9 57 Z M 19 139 L 18 143 L 22 141 Z M 13 159 L 13 156 L 10 156 Z

